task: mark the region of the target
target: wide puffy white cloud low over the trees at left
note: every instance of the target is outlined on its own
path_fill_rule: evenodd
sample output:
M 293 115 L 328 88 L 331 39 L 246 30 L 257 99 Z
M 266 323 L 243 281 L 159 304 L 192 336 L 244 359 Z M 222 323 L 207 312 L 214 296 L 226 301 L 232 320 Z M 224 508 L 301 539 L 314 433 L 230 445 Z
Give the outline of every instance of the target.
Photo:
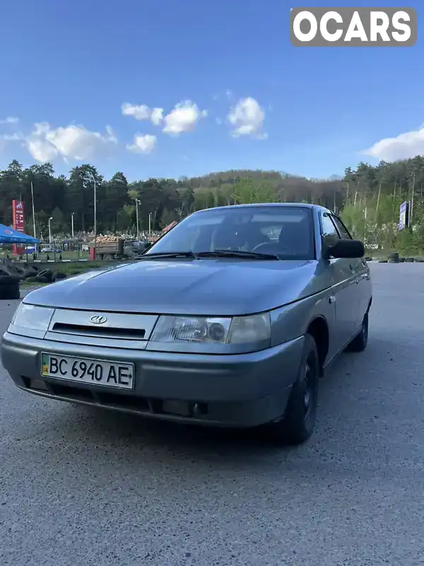
M 86 161 L 98 152 L 104 152 L 117 144 L 110 126 L 106 134 L 90 132 L 82 125 L 69 125 L 53 129 L 48 122 L 34 125 L 33 132 L 25 138 L 25 146 L 37 161 L 53 161 L 63 157 L 74 161 Z

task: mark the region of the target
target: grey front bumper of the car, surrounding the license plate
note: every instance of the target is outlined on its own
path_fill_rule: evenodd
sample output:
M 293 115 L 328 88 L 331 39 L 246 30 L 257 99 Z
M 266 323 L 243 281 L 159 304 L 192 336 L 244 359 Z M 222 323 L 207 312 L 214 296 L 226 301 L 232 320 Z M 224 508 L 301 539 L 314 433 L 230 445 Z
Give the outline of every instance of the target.
M 36 395 L 165 420 L 254 427 L 283 415 L 302 346 L 299 337 L 250 354 L 180 354 L 73 345 L 6 332 L 1 361 L 16 386 Z M 134 391 L 42 378 L 42 351 L 132 362 Z M 42 380 L 44 390 L 34 380 Z

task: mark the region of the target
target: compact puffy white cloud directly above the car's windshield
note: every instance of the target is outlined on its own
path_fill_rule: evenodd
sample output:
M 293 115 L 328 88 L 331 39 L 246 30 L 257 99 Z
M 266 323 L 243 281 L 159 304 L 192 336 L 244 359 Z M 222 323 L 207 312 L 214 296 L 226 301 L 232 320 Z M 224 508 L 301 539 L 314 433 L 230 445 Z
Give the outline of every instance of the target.
M 265 111 L 254 98 L 241 98 L 231 108 L 227 116 L 232 127 L 232 136 L 251 136 L 264 139 L 268 134 L 262 131 L 264 126 Z

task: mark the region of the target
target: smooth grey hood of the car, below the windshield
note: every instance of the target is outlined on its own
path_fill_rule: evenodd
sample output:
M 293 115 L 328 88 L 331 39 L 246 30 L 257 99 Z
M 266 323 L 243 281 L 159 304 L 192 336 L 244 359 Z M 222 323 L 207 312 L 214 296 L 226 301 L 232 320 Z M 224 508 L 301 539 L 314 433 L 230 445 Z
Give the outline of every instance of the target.
M 328 287 L 317 261 L 142 260 L 32 291 L 25 303 L 128 313 L 243 315 Z M 318 277 L 317 277 L 318 276 Z

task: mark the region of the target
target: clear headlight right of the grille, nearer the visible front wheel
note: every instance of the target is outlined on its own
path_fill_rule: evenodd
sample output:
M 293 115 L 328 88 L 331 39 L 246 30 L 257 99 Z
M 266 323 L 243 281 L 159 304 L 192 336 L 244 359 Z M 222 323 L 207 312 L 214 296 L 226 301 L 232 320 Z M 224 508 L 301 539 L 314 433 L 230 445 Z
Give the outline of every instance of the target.
M 270 335 L 268 313 L 235 318 L 161 316 L 151 340 L 186 344 L 242 344 L 269 340 Z

